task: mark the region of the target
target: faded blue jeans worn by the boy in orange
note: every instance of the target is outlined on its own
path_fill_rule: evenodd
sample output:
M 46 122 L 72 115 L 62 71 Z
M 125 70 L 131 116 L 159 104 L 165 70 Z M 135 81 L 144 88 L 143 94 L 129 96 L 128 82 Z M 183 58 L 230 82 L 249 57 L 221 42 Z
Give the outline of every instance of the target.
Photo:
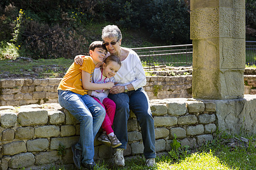
M 80 122 L 80 139 L 76 148 L 82 150 L 82 163 L 93 162 L 94 138 L 105 118 L 105 109 L 89 95 L 58 90 L 59 104 Z

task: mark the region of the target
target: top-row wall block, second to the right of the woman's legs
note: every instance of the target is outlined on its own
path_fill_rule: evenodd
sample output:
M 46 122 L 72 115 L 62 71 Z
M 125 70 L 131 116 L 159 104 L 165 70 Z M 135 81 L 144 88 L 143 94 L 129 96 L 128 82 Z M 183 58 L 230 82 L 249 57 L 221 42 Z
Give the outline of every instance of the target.
M 185 103 L 179 102 L 170 102 L 167 103 L 168 114 L 171 116 L 181 116 L 187 113 L 187 108 Z

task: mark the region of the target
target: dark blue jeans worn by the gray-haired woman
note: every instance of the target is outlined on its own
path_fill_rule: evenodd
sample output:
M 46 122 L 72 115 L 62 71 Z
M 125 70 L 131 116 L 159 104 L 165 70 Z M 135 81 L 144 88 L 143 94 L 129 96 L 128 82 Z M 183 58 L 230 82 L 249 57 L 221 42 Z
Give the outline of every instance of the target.
M 143 88 L 136 91 L 129 91 L 121 94 L 109 94 L 109 99 L 115 102 L 115 117 L 113 130 L 119 141 L 122 143 L 117 148 L 126 149 L 128 142 L 127 121 L 131 111 L 134 112 L 139 126 L 141 126 L 142 139 L 144 145 L 143 154 L 146 159 L 155 158 L 155 127 L 154 119 L 150 111 L 149 100 Z

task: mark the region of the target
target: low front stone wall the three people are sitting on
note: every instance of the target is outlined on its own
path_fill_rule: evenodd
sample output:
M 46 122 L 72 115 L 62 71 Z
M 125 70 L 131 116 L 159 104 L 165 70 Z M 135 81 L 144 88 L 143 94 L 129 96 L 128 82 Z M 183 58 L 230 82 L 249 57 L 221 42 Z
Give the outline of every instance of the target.
M 216 129 L 256 134 L 256 95 L 244 99 L 204 100 L 173 98 L 150 100 L 155 121 L 156 152 L 171 150 L 174 134 L 191 148 L 212 141 Z M 73 169 L 71 146 L 79 139 L 79 122 L 59 104 L 0 107 L 1 169 Z M 101 130 L 100 130 L 101 131 Z M 128 121 L 129 143 L 124 155 L 143 153 L 142 134 L 134 113 Z M 98 136 L 98 134 L 97 134 Z M 97 138 L 96 136 L 96 138 Z M 58 154 L 64 146 L 66 154 Z M 113 149 L 94 141 L 95 159 L 112 163 Z

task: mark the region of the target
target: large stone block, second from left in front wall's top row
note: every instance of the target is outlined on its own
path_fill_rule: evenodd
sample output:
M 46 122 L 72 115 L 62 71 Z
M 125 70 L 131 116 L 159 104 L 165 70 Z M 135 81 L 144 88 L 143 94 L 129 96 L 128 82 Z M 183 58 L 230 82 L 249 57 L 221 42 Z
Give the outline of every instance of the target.
M 47 111 L 39 108 L 20 108 L 18 111 L 18 122 L 22 126 L 47 124 Z

